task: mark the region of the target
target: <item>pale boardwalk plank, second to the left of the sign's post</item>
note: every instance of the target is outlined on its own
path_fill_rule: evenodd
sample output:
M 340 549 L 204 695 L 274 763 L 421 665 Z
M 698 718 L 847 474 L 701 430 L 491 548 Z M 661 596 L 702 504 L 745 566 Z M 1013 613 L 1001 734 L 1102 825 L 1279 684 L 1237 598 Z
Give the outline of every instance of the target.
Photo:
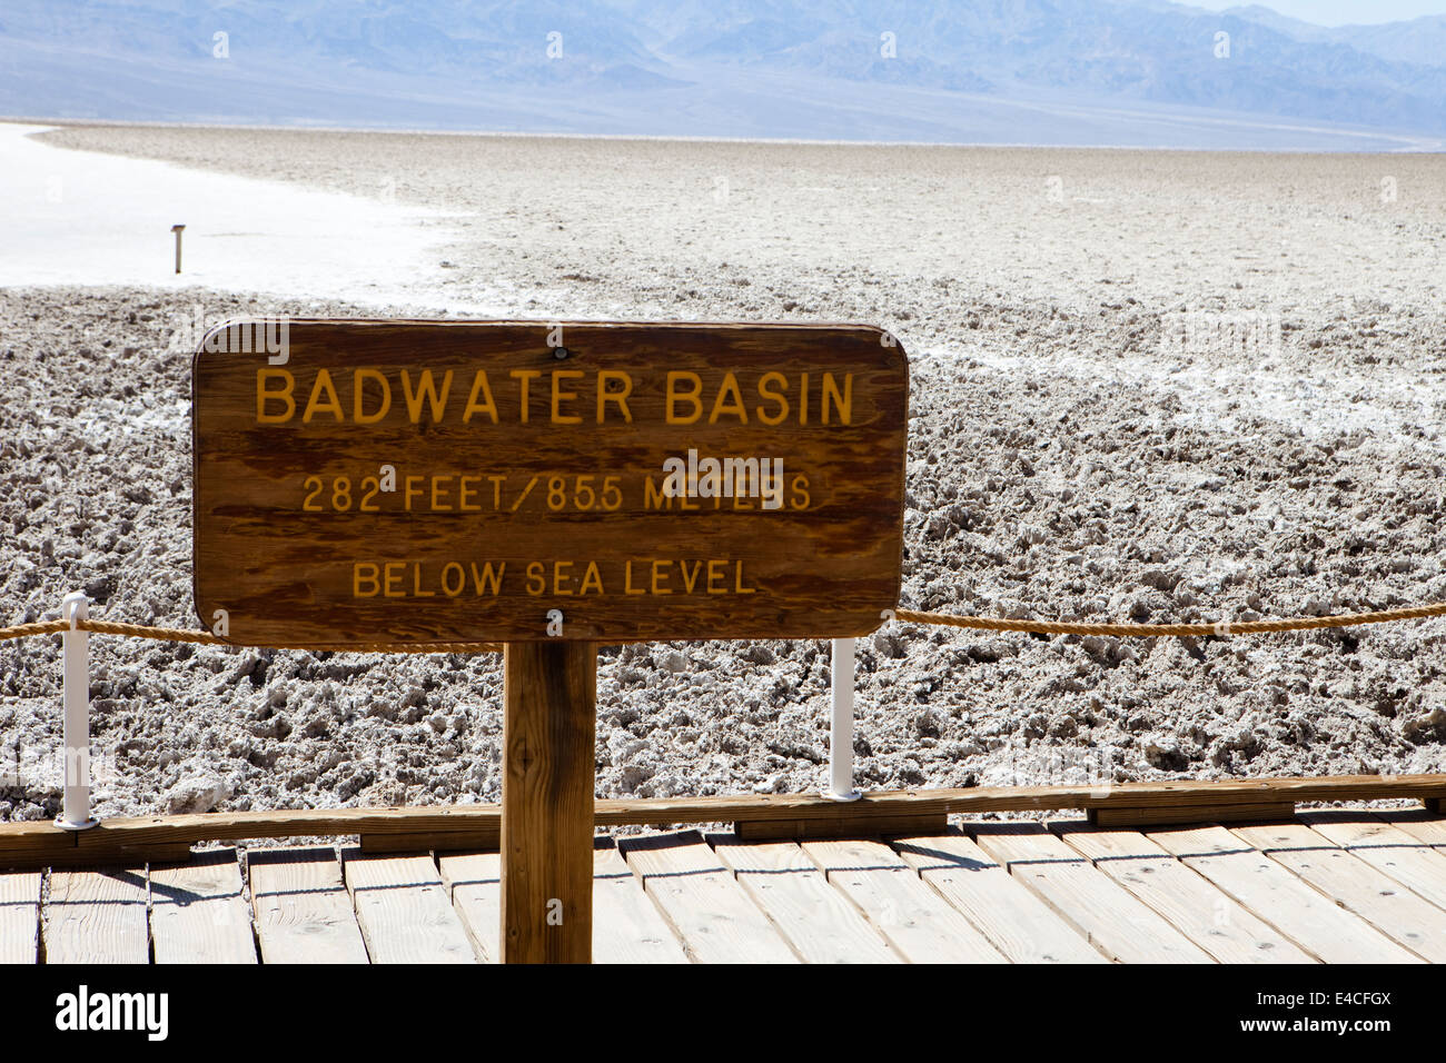
M 476 962 L 429 858 L 343 850 L 341 863 L 373 963 Z

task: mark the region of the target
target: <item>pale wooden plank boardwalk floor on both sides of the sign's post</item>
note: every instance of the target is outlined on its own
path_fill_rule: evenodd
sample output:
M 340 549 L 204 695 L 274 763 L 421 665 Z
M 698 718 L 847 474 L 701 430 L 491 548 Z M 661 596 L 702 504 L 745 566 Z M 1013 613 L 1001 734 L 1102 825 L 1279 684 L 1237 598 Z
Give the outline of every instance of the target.
M 1446 820 L 966 821 L 925 837 L 599 837 L 600 963 L 1423 963 Z M 4 963 L 495 963 L 495 852 L 213 849 L 0 872 Z

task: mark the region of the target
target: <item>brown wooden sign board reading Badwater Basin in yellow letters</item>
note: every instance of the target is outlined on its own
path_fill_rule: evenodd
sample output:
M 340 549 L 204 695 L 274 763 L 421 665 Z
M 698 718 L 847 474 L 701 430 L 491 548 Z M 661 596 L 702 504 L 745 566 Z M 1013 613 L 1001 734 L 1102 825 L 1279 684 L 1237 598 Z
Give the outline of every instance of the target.
M 878 328 L 228 323 L 192 389 L 195 603 L 233 642 L 849 636 L 898 602 Z

